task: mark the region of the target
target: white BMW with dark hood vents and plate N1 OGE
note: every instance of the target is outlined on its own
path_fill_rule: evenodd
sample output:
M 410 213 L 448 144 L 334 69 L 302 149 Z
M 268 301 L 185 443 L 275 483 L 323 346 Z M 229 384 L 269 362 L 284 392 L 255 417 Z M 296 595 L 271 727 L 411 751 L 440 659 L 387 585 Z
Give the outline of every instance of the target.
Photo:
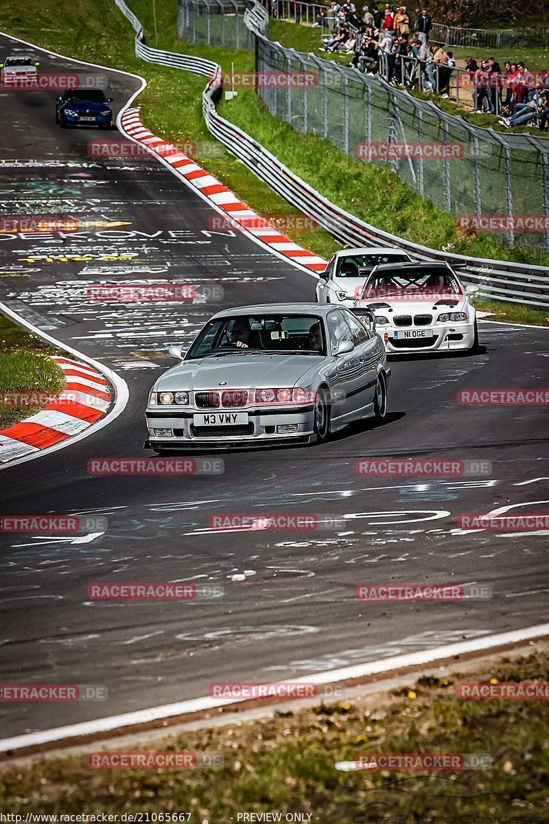
M 391 354 L 477 351 L 471 297 L 446 263 L 384 264 L 372 270 L 355 302 L 375 314 L 375 330 Z

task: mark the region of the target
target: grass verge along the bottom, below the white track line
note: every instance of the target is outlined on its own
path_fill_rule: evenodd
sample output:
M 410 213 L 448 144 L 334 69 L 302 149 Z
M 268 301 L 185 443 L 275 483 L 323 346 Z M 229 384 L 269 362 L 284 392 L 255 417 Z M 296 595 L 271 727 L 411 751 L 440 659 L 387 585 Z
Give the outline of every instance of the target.
M 138 809 L 185 812 L 190 822 L 287 811 L 310 813 L 310 821 L 323 824 L 541 824 L 549 817 L 547 702 L 459 700 L 457 684 L 547 681 L 548 665 L 540 649 L 528 658 L 504 658 L 488 671 L 479 663 L 468 674 L 411 679 L 382 700 L 342 700 L 249 723 L 235 719 L 226 727 L 147 742 L 147 751 L 220 752 L 224 766 L 216 770 L 93 770 L 86 755 L 3 765 L 0 810 L 25 816 Z M 115 743 L 107 747 L 116 749 Z M 492 764 L 400 772 L 335 766 L 366 753 L 486 753 Z

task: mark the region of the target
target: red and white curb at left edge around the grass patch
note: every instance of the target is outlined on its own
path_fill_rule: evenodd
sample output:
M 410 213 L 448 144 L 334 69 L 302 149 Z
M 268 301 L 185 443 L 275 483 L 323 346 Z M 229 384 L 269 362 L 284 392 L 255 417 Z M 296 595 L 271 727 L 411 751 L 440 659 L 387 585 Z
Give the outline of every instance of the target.
M 80 434 L 101 418 L 112 403 L 109 385 L 96 369 L 72 358 L 52 360 L 63 369 L 66 386 L 40 412 L 0 429 L 0 465 Z

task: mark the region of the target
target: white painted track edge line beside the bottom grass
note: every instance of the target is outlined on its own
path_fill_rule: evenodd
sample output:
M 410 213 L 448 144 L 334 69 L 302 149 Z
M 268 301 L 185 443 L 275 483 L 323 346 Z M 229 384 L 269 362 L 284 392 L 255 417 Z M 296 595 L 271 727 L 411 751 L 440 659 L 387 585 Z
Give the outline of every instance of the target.
M 343 667 L 337 670 L 329 670 L 328 672 L 317 672 L 314 675 L 292 678 L 290 681 L 285 681 L 285 683 L 331 684 L 334 681 L 347 681 L 352 678 L 377 675 L 381 672 L 392 672 L 402 667 L 417 667 L 444 658 L 452 658 L 456 655 L 464 655 L 466 653 L 475 653 L 491 649 L 492 647 L 500 647 L 504 644 L 518 644 L 521 641 L 541 638 L 545 635 L 549 635 L 549 624 L 528 626 L 524 627 L 523 630 L 512 630 L 511 632 L 486 635 L 483 638 L 461 641 L 459 644 L 446 644 L 444 647 L 438 647 L 436 649 L 425 649 L 417 653 L 406 653 L 405 655 L 397 655 L 393 658 L 384 658 L 383 661 L 356 664 L 353 667 Z M 46 729 L 26 735 L 4 738 L 0 741 L 0 752 L 21 750 L 24 747 L 35 747 L 40 744 L 48 744 L 56 741 L 64 742 L 67 738 L 108 733 L 114 729 L 132 727 L 158 719 L 173 718 L 179 715 L 197 713 L 203 709 L 216 709 L 216 707 L 225 707 L 237 703 L 242 703 L 242 699 L 219 700 L 206 695 L 202 698 L 179 701 L 177 704 L 166 704 L 160 707 L 150 707 L 149 709 L 137 709 L 135 712 L 111 715 L 107 718 L 95 719 L 94 721 L 83 721 L 81 723 L 70 724 L 67 727 Z M 163 727 L 161 732 L 165 734 L 167 729 Z

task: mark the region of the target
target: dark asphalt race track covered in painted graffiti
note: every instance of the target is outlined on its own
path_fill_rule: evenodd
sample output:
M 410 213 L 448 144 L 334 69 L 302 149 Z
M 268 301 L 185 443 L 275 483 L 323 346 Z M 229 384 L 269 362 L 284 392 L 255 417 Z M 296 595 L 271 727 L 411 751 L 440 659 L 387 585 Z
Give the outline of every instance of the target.
M 2 54 L 14 46 L 3 38 Z M 74 68 L 41 61 L 44 72 Z M 116 111 L 138 85 L 109 73 Z M 476 356 L 393 360 L 387 422 L 347 429 L 323 446 L 223 454 L 221 475 L 89 475 L 92 457 L 152 456 L 142 448 L 143 410 L 153 380 L 174 363 L 170 344 L 188 343 L 221 307 L 310 302 L 314 278 L 242 233 L 212 233 L 216 213 L 160 163 L 89 157 L 87 143 L 105 134 L 56 126 L 54 92 L 0 98 L 0 214 L 99 223 L 77 236 L 2 236 L 0 297 L 113 368 L 130 391 L 123 414 L 98 433 L 0 473 L 2 513 L 94 513 L 109 522 L 87 536 L 2 535 L 2 681 L 109 691 L 96 703 L 2 702 L 5 736 L 207 695 L 211 681 L 305 676 L 547 620 L 547 531 L 457 527 L 461 513 L 549 511 L 547 410 L 463 406 L 457 393 L 545 388 L 548 330 L 481 323 Z M 86 300 L 86 285 L 101 279 L 221 284 L 224 297 Z M 472 459 L 492 469 L 445 480 L 357 476 L 356 459 L 368 456 Z M 316 513 L 347 523 L 226 533 L 209 527 L 215 513 Z M 95 581 L 215 583 L 225 595 L 91 602 Z M 484 583 L 493 597 L 361 603 L 358 583 Z

